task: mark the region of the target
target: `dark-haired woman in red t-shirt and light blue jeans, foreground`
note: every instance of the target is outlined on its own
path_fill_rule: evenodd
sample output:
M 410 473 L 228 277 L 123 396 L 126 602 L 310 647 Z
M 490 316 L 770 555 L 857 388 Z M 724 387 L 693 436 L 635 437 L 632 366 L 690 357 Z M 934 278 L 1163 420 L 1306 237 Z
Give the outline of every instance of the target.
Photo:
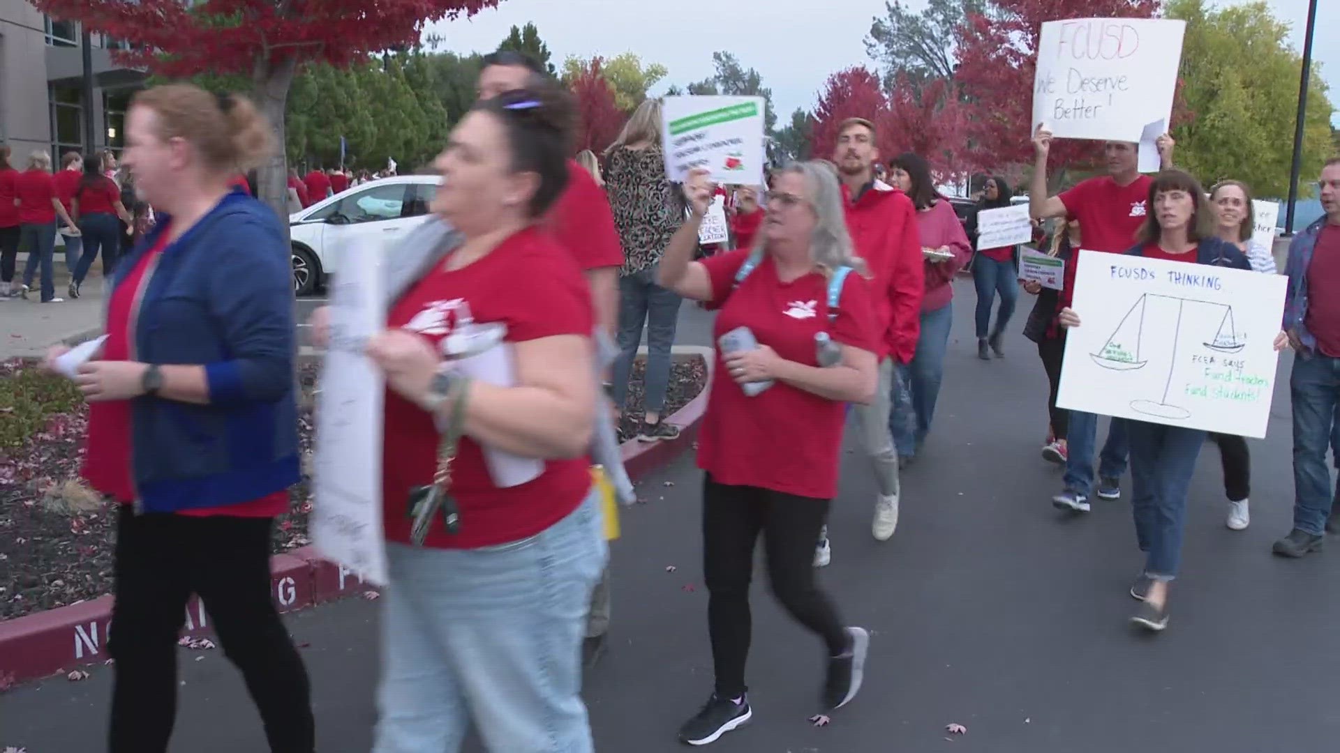
M 390 328 L 367 346 L 387 382 L 377 750 L 458 750 L 472 717 L 497 753 L 592 746 L 595 319 L 572 255 L 539 226 L 568 181 L 571 123 L 553 86 L 476 103 L 437 158 L 433 209 L 456 233 L 430 221 L 389 261 Z M 494 350 L 474 351 L 490 332 Z M 511 379 L 444 358 L 462 347 L 511 358 Z

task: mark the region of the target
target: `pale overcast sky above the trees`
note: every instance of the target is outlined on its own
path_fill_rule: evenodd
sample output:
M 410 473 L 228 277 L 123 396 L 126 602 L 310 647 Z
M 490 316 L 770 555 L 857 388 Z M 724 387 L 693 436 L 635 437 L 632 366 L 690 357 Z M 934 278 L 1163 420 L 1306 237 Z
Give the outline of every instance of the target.
M 1237 0 L 1219 0 L 1231 4 Z M 1266 0 L 1276 17 L 1293 25 L 1302 50 L 1308 0 Z M 926 0 L 907 0 L 923 8 Z M 772 87 L 783 122 L 796 107 L 811 109 L 829 74 L 848 66 L 871 66 L 863 39 L 871 19 L 883 15 L 883 0 L 833 0 L 828 7 L 805 0 L 762 3 L 712 1 L 705 5 L 649 0 L 503 0 L 472 20 L 436 24 L 454 52 L 489 52 L 516 25 L 533 23 L 561 64 L 567 55 L 618 55 L 631 51 L 643 62 L 666 66 L 670 83 L 686 84 L 712 75 L 712 54 L 729 50 Z M 1321 0 L 1313 55 L 1340 99 L 1340 47 L 1321 40 L 1321 29 L 1340 28 L 1340 0 Z M 1340 115 L 1335 122 L 1340 125 Z

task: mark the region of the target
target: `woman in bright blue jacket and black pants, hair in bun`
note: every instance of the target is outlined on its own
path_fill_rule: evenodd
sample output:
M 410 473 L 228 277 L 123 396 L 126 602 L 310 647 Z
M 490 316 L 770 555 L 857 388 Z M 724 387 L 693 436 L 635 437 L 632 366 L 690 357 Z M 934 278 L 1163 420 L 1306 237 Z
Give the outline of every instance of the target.
M 197 594 L 271 750 L 311 753 L 307 671 L 269 577 L 272 521 L 300 476 L 288 245 L 269 208 L 228 186 L 273 134 L 245 99 L 184 84 L 141 91 L 126 121 L 125 163 L 158 224 L 117 265 L 107 339 L 78 374 L 83 476 L 121 506 L 109 750 L 168 750 Z

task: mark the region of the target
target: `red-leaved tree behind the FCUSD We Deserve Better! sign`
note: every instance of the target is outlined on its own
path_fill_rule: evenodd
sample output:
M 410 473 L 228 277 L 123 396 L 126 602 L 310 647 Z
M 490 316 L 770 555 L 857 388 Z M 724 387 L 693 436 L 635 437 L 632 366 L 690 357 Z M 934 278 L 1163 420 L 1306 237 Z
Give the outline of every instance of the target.
M 966 100 L 973 162 L 998 167 L 1032 162 L 1033 74 L 1043 21 L 1088 17 L 1148 19 L 1160 0 L 994 0 L 969 15 L 959 35 L 954 82 Z M 1175 115 L 1174 115 L 1174 119 Z M 1088 141 L 1057 141 L 1049 165 L 1088 166 L 1100 150 Z

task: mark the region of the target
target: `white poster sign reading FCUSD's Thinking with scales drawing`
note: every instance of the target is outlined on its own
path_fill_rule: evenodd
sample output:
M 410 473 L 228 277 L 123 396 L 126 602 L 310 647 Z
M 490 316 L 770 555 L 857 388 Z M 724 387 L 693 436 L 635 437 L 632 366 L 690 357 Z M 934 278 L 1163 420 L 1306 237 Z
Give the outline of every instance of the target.
M 1265 437 L 1286 283 L 1081 251 L 1057 407 Z

